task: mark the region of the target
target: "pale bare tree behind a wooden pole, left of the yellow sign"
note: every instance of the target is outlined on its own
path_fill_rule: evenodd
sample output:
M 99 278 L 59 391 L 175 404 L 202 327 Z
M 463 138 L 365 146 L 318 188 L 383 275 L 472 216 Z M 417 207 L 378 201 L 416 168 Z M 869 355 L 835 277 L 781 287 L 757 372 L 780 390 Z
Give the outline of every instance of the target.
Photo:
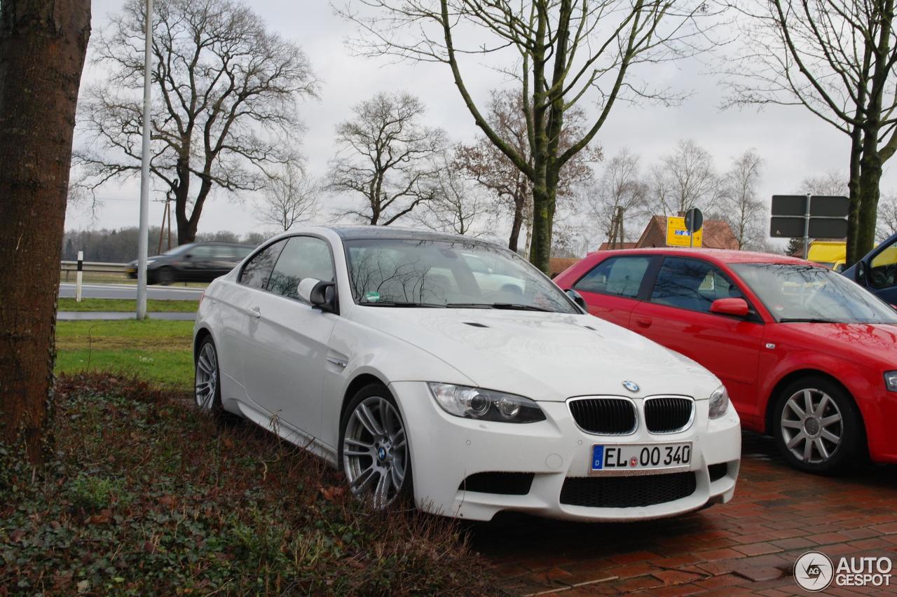
M 644 211 L 649 186 L 641 177 L 639 156 L 623 149 L 607 161 L 598 183 L 585 187 L 584 191 L 588 211 L 605 237 L 609 241 L 613 241 L 612 237 L 625 241 L 625 226 L 621 229 L 617 226 L 626 221 L 627 215 L 637 216 Z

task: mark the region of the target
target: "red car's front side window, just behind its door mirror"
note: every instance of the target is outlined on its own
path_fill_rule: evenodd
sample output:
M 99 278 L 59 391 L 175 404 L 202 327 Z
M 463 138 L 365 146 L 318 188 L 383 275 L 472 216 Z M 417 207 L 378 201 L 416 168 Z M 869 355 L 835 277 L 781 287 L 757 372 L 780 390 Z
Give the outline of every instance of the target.
M 666 257 L 651 302 L 710 313 L 716 299 L 741 298 L 741 290 L 716 267 L 698 259 Z

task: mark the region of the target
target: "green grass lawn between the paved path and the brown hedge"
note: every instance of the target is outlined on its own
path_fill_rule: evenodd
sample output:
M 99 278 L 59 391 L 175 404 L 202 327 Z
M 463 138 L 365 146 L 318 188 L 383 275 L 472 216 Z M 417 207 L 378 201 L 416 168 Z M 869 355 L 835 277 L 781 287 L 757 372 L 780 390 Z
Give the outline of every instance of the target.
M 189 389 L 192 334 L 192 321 L 60 321 L 56 372 L 111 371 Z

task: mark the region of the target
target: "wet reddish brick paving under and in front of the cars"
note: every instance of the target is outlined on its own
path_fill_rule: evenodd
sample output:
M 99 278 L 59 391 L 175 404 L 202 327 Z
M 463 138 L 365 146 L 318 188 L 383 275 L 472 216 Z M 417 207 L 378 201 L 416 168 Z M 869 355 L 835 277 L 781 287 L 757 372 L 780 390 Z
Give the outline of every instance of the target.
M 803 593 L 792 567 L 808 549 L 897 559 L 897 467 L 817 477 L 788 468 L 771 439 L 745 434 L 736 497 L 725 506 L 647 523 L 507 515 L 470 528 L 511 593 Z

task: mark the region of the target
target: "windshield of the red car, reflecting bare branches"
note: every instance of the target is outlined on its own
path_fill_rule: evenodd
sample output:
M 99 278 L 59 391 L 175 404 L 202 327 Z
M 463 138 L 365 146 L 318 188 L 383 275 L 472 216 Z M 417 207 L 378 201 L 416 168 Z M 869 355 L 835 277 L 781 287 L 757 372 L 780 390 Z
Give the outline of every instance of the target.
M 733 264 L 779 322 L 897 324 L 897 313 L 840 273 L 804 264 Z

